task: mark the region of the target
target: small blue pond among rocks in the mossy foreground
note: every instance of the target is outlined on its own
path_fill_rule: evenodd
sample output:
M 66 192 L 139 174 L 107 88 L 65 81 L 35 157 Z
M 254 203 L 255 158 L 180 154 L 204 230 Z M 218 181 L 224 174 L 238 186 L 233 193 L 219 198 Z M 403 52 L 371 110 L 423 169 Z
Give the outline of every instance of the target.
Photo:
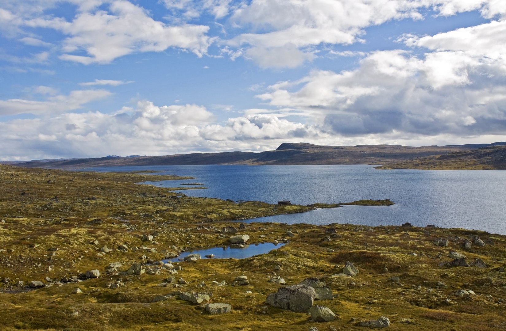
M 244 259 L 247 257 L 269 253 L 270 251 L 282 247 L 283 243 L 273 244 L 273 243 L 259 243 L 259 244 L 247 244 L 244 247 L 234 247 L 234 246 L 218 246 L 211 247 L 201 250 L 192 250 L 186 251 L 178 255 L 173 259 L 162 260 L 166 261 L 177 261 L 178 259 L 184 259 L 186 256 L 190 254 L 200 254 L 202 259 L 207 259 L 205 255 L 214 254 L 213 259 Z

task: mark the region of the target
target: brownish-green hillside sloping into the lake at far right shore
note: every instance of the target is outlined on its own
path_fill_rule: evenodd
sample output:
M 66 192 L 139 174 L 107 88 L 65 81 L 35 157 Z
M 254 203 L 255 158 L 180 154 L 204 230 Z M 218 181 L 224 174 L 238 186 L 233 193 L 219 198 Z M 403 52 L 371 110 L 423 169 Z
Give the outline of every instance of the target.
M 377 169 L 483 170 L 506 169 L 506 146 L 494 145 L 476 150 L 416 158 L 386 164 Z

